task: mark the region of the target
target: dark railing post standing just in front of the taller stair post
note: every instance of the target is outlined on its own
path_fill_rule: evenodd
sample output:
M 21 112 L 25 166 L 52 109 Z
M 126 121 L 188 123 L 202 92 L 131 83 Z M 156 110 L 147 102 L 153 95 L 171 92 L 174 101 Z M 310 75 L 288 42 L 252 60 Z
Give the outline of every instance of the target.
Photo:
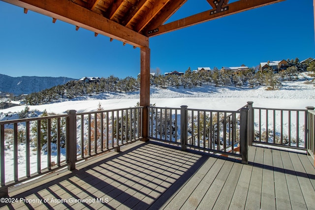
M 240 116 L 240 152 L 242 163 L 248 164 L 248 108 L 241 109 Z

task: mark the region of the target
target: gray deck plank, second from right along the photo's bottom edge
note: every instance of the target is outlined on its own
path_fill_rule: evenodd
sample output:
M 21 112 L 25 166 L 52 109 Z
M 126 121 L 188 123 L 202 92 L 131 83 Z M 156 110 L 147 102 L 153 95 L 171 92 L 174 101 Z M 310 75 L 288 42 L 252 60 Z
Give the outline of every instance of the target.
M 291 158 L 287 151 L 280 151 L 282 162 L 284 164 L 284 173 L 291 200 L 292 209 L 307 209 L 304 197 L 301 191 L 299 181 L 291 162 Z

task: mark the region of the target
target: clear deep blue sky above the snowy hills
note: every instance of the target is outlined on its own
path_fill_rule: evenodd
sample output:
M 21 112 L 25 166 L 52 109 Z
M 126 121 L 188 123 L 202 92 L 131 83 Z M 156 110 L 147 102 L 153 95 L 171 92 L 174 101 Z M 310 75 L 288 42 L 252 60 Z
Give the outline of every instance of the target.
M 188 0 L 168 22 L 209 9 L 206 0 Z M 150 48 L 151 69 L 161 73 L 315 58 L 313 1 L 285 0 L 162 34 L 150 38 Z M 0 74 L 125 78 L 139 72 L 139 48 L 0 1 Z

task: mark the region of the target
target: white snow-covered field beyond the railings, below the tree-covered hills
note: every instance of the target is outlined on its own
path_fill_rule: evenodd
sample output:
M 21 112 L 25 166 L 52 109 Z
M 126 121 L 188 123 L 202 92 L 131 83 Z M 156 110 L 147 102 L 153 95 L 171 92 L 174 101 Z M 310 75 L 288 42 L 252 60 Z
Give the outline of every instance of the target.
M 305 109 L 306 106 L 315 106 L 315 85 L 306 84 L 304 78 L 294 82 L 284 82 L 280 90 L 265 90 L 259 88 L 235 88 L 204 86 L 192 89 L 151 88 L 151 104 L 157 107 L 179 108 L 187 105 L 193 109 L 228 110 L 234 111 L 253 101 L 254 107 Z M 139 102 L 139 91 L 133 93 L 102 93 L 91 96 L 77 97 L 72 100 L 56 102 L 45 105 L 29 106 L 30 111 L 36 110 L 37 115 L 47 110 L 48 113 L 64 114 L 66 110 L 77 112 L 90 112 L 97 109 L 100 103 L 104 110 L 134 107 Z M 0 120 L 17 119 L 17 112 L 24 110 L 25 106 L 16 106 L 0 110 Z M 25 164 L 25 145 L 19 145 L 19 164 Z M 62 159 L 64 152 L 62 152 Z M 42 155 L 42 166 L 47 166 L 47 155 Z M 56 156 L 52 155 L 52 161 Z M 13 147 L 5 151 L 5 180 L 13 179 Z M 36 171 L 36 152 L 31 151 L 31 174 Z M 25 174 L 25 168 L 19 167 L 19 175 Z

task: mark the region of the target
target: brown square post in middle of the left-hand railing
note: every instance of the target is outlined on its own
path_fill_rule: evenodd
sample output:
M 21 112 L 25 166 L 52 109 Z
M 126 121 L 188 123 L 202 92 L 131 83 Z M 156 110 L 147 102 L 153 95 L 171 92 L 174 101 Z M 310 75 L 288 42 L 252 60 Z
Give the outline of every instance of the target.
M 68 117 L 66 118 L 66 162 L 68 170 L 75 169 L 75 160 L 77 156 L 77 126 L 76 126 L 75 110 L 67 110 Z

